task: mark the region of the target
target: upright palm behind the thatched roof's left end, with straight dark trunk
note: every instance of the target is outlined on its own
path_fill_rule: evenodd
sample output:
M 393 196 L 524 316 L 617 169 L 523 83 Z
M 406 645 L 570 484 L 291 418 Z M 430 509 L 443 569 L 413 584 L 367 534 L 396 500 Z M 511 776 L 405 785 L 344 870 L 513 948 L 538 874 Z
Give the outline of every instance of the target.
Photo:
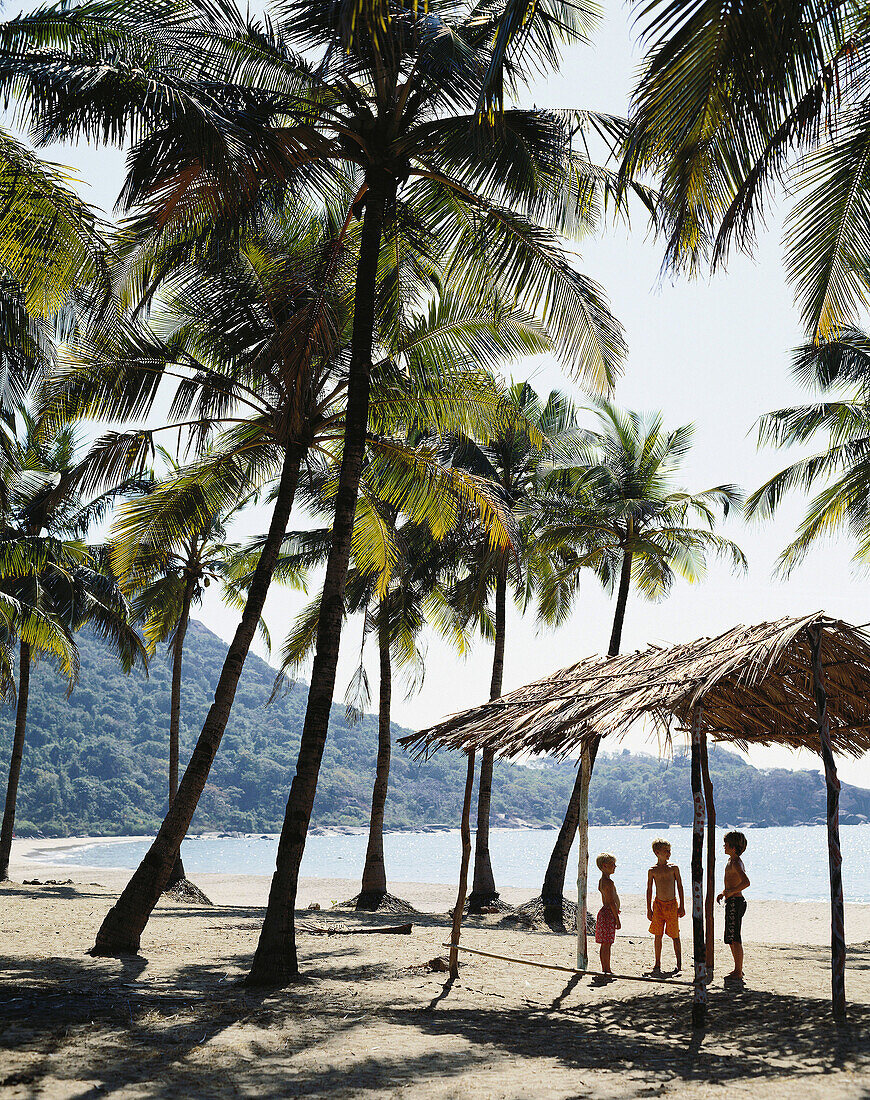
M 485 444 L 462 440 L 453 451 L 453 461 L 489 481 L 515 516 L 518 538 L 499 550 L 478 532 L 463 531 L 454 540 L 459 551 L 456 580 L 451 584 L 451 603 L 464 624 L 475 623 L 493 641 L 493 669 L 489 698 L 498 698 L 507 642 L 507 597 L 524 610 L 535 595 L 535 564 L 531 553 L 538 536 L 528 522 L 536 497 L 546 479 L 560 465 L 576 459 L 576 418 L 568 398 L 553 392 L 542 400 L 527 383 L 515 383 L 508 396 L 517 410 L 517 424 L 507 427 Z M 524 518 L 526 521 L 524 521 Z M 477 789 L 477 828 L 474 875 L 469 911 L 489 909 L 498 892 L 489 857 L 489 805 L 492 801 L 494 754 L 484 750 Z

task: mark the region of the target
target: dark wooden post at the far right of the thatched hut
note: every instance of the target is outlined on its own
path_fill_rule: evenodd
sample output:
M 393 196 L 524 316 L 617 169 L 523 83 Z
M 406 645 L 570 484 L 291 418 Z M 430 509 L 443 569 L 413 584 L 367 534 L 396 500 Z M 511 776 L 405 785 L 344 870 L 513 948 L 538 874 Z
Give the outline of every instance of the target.
M 822 664 L 822 627 L 807 627 L 813 649 L 813 694 L 818 714 L 818 740 L 825 763 L 828 818 L 828 872 L 830 876 L 830 1007 L 834 1019 L 846 1020 L 846 931 L 843 914 L 843 855 L 840 854 L 840 781 L 830 747 L 828 701 Z

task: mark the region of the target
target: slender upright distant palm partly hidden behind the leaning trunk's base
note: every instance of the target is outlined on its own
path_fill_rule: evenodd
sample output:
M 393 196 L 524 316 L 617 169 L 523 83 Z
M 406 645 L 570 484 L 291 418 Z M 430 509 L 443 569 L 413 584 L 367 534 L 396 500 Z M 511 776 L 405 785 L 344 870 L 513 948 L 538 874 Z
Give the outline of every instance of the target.
M 184 468 L 168 451 L 159 450 L 169 476 L 183 475 Z M 110 536 L 112 566 L 131 600 L 133 622 L 142 625 L 152 653 L 158 645 L 168 644 L 172 656 L 169 802 L 178 791 L 181 664 L 190 612 L 201 603 L 211 583 L 232 584 L 239 548 L 227 541 L 227 528 L 250 499 L 243 498 L 222 513 L 209 512 L 202 502 L 194 504 L 189 495 L 188 503 L 194 507 L 187 528 L 168 542 L 155 543 L 151 539 L 155 505 L 151 494 L 122 505 Z M 161 504 L 158 497 L 157 506 Z M 224 587 L 224 597 L 230 598 L 233 591 Z M 238 597 L 233 602 L 238 603 Z M 210 904 L 202 891 L 187 881 L 180 851 L 166 884 L 166 890 L 179 889 L 188 900 Z

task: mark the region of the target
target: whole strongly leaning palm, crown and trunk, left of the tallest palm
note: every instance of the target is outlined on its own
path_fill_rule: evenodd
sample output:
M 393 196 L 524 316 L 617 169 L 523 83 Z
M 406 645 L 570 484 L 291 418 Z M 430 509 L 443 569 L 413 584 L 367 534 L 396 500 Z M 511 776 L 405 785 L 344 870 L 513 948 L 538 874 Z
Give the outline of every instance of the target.
M 293 217 L 266 216 L 232 244 L 197 240 L 192 231 L 168 242 L 140 238 L 125 257 L 129 288 L 121 295 L 144 304 L 144 319 L 126 312 L 115 326 L 101 319 L 79 336 L 46 387 L 48 424 L 77 415 L 141 425 L 95 444 L 95 477 L 145 466 L 159 432 L 186 438 L 194 458 L 213 444 L 150 494 L 151 546 L 183 543 L 191 524 L 208 527 L 216 514 L 277 480 L 268 535 L 213 704 L 150 858 L 103 922 L 96 953 L 135 949 L 176 866 L 262 618 L 300 469 L 312 447 L 341 438 L 349 238 L 333 212 L 297 207 Z M 136 294 L 143 283 L 144 297 Z M 172 413 L 152 428 L 163 383 L 174 386 Z

